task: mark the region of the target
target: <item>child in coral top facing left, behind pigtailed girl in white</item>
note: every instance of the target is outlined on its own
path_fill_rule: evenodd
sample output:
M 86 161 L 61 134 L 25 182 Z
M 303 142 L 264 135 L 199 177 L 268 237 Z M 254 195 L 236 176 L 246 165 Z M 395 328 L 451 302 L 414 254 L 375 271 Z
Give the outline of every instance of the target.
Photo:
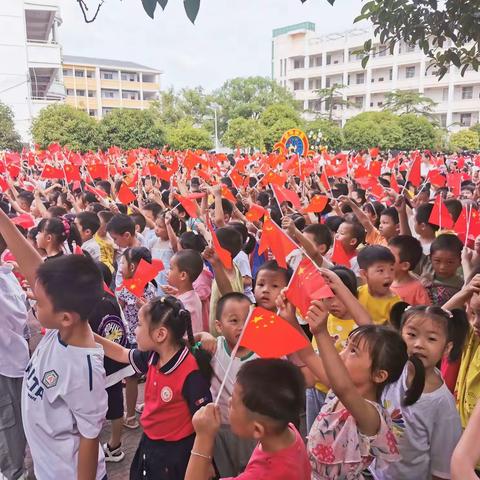
M 431 305 L 425 287 L 412 273 L 422 258 L 422 244 L 410 235 L 398 235 L 390 239 L 388 247 L 395 257 L 392 292 L 409 305 Z

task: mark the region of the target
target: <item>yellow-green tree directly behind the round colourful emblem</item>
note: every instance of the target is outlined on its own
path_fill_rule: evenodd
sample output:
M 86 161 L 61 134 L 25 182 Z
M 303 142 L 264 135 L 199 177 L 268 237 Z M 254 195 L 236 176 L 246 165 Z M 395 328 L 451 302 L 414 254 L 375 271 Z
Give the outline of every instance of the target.
M 263 143 L 267 150 L 280 141 L 282 135 L 291 128 L 301 125 L 300 114 L 290 104 L 276 103 L 268 106 L 260 115 L 260 123 L 265 130 Z

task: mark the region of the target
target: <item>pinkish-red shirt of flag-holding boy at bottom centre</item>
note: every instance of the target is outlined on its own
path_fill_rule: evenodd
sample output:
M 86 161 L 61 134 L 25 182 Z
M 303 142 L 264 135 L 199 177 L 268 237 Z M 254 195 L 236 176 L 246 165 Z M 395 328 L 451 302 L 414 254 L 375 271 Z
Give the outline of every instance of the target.
M 258 444 L 245 471 L 237 477 L 222 480 L 310 480 L 311 467 L 307 449 L 292 424 L 290 429 L 295 432 L 295 443 L 292 446 L 275 453 L 265 453 Z

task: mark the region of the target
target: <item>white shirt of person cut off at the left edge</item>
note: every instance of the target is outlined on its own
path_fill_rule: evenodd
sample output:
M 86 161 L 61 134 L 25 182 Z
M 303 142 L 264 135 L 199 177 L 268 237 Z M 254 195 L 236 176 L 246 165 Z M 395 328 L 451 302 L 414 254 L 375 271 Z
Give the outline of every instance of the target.
M 26 297 L 10 265 L 0 266 L 0 292 L 0 375 L 22 378 L 29 356 Z

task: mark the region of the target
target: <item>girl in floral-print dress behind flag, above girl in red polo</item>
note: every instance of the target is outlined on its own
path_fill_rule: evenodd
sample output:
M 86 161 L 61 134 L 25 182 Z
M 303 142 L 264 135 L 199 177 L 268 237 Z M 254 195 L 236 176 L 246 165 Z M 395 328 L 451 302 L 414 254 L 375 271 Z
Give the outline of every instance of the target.
M 152 263 L 152 255 L 145 247 L 133 247 L 125 250 L 122 260 L 122 278 L 130 279 L 135 277 L 135 272 L 140 260 Z M 155 297 L 155 286 L 153 283 L 148 283 L 145 286 L 143 297 L 147 301 Z M 129 346 L 130 348 L 136 348 L 137 340 L 135 337 L 135 329 L 138 324 L 138 312 L 141 307 L 141 301 L 125 287 L 117 293 L 117 298 L 127 322 Z M 135 415 L 135 406 L 138 397 L 138 377 L 135 375 L 126 379 L 125 397 L 127 401 L 127 413 L 124 426 L 130 429 L 138 428 Z

